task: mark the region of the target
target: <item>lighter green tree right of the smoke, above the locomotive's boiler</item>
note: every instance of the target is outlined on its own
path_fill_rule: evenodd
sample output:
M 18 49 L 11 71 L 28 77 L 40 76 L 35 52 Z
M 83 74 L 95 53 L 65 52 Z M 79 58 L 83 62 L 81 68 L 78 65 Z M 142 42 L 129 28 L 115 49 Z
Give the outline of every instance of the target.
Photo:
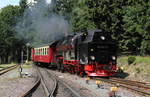
M 96 28 L 86 0 L 58 0 L 56 7 L 57 13 L 65 16 L 70 22 L 73 31 Z

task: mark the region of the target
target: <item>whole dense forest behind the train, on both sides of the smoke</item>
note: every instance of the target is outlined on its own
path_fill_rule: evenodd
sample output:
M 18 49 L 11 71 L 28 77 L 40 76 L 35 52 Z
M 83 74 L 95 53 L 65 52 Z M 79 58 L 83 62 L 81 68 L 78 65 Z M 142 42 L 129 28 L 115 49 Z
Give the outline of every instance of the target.
M 30 6 L 20 0 L 19 6 L 0 9 L 0 63 L 19 61 L 26 51 L 27 41 L 15 28 Z M 52 0 L 50 6 L 46 15 L 64 17 L 71 32 L 103 29 L 117 41 L 118 53 L 150 55 L 149 0 Z

